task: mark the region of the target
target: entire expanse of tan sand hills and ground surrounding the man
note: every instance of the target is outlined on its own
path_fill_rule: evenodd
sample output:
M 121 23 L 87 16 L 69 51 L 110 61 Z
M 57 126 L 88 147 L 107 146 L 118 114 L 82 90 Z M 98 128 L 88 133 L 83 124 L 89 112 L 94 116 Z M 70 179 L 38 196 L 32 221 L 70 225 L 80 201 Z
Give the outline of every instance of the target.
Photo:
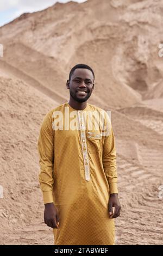
M 90 103 L 111 110 L 116 137 L 118 245 L 162 244 L 163 1 L 57 3 L 0 28 L 0 243 L 52 245 L 43 223 L 37 138 L 45 114 L 68 101 L 70 68 L 95 70 Z

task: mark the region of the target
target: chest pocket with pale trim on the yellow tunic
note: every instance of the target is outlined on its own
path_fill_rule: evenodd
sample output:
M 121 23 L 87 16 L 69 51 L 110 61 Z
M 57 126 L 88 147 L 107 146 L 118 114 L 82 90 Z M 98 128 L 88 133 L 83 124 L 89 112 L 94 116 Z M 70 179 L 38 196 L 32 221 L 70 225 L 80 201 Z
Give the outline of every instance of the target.
M 91 154 L 98 153 L 102 147 L 102 133 L 100 132 L 86 132 L 87 148 Z

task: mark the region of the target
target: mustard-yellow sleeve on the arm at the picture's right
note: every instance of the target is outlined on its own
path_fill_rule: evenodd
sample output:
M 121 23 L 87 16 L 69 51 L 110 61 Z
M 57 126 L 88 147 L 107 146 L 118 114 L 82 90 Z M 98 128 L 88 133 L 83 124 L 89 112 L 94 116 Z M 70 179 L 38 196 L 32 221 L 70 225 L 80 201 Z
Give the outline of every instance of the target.
M 110 194 L 118 193 L 117 188 L 117 171 L 116 171 L 116 148 L 115 137 L 110 122 L 110 132 L 105 136 L 103 145 L 103 167 L 108 180 Z

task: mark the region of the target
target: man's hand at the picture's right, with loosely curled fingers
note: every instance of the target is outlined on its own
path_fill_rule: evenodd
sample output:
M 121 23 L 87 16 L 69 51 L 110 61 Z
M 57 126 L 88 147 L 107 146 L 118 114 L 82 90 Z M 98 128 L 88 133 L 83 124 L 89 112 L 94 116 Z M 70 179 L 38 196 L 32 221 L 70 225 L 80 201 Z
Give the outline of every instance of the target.
M 114 213 L 112 207 L 115 207 Z M 109 216 L 110 218 L 117 218 L 121 214 L 121 204 L 118 199 L 118 194 L 110 194 L 109 198 Z

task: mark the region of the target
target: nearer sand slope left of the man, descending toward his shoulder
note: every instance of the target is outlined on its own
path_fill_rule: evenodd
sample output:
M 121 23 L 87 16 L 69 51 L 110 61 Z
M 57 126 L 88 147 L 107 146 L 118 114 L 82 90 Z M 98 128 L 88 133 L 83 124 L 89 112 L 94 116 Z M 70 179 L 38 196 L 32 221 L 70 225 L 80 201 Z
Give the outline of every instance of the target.
M 15 230 L 42 221 L 36 143 L 40 121 L 59 103 L 21 80 L 0 77 L 0 86 L 1 168 L 3 166 L 0 184 L 4 189 L 0 216 L 1 243 L 4 244 L 12 240 L 10 234 Z M 15 239 L 18 242 L 16 235 Z

